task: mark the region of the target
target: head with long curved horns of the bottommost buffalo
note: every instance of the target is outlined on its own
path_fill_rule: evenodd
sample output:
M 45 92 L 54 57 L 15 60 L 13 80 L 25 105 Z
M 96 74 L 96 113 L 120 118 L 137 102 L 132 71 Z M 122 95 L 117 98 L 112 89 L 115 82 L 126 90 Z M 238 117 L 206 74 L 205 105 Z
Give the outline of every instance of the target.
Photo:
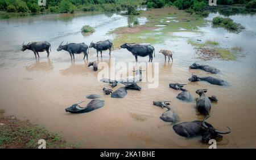
M 229 130 L 226 132 L 217 131 L 217 129 L 213 128 L 212 125 L 209 123 L 205 123 L 205 120 L 207 120 L 210 116 L 207 116 L 202 122 L 202 127 L 200 129 L 200 134 L 202 136 L 203 142 L 208 142 L 210 139 L 216 139 L 217 137 L 222 138 L 221 135 L 228 134 L 231 132 L 231 129 L 227 127 Z M 220 135 L 221 134 L 221 135 Z

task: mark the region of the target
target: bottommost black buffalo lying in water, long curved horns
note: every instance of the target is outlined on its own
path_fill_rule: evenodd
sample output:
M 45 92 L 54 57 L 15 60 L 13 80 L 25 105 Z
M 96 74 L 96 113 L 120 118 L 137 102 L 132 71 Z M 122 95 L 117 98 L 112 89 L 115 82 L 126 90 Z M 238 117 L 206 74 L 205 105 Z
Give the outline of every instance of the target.
M 217 129 L 215 129 L 211 124 L 205 122 L 205 120 L 207 120 L 208 118 L 209 116 L 203 121 L 195 120 L 193 122 L 183 122 L 175 124 L 174 126 L 172 126 L 172 128 L 178 135 L 183 137 L 194 137 L 201 135 L 203 142 L 208 142 L 210 139 L 216 139 L 217 137 L 222 138 L 221 135 L 231 132 L 231 129 L 229 127 L 229 130 L 226 132 L 217 131 Z

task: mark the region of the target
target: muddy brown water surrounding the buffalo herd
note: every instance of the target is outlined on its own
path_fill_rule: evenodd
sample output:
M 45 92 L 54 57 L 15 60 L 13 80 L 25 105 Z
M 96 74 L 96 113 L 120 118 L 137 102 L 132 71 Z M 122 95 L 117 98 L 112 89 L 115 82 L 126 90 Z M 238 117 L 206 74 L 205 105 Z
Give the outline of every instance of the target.
M 210 14 L 208 19 L 214 16 L 216 14 Z M 91 41 L 113 40 L 114 35 L 107 33 L 127 26 L 125 16 L 53 14 L 0 20 L 0 109 L 4 109 L 7 115 L 29 119 L 58 132 L 69 142 L 85 148 L 208 148 L 208 144 L 200 142 L 200 137 L 185 139 L 176 135 L 170 123 L 159 119 L 165 110 L 152 105 L 155 100 L 171 100 L 179 122 L 203 119 L 195 109 L 195 100 L 179 101 L 176 99 L 179 91 L 168 87 L 169 83 L 184 83 L 188 84 L 185 88 L 190 90 L 193 98 L 198 97 L 195 91 L 200 88 L 208 89 L 209 96 L 218 97 L 218 103 L 212 105 L 208 122 L 219 130 L 226 129 L 226 126 L 232 128 L 232 133 L 217 142 L 218 148 L 255 148 L 256 16 L 234 15 L 231 18 L 245 25 L 245 31 L 228 33 L 208 24 L 200 28 L 201 33 L 173 33 L 164 44 L 154 45 L 156 58 L 153 62 L 159 62 L 159 86 L 152 89 L 148 88 L 148 83 L 138 83 L 141 92 L 129 90 L 123 99 L 104 96 L 102 88 L 109 85 L 98 82 L 98 72 L 87 67 L 88 62 L 82 60 L 82 55 L 76 55 L 75 61 L 71 61 L 65 51 L 57 52 L 56 49 L 61 41 L 89 45 Z M 96 28 L 96 32 L 82 36 L 80 28 L 85 24 Z M 241 46 L 245 57 L 236 61 L 203 61 L 197 59 L 195 49 L 187 44 L 188 38 L 216 40 L 222 47 Z M 40 59 L 36 60 L 31 51 L 20 50 L 23 41 L 40 40 L 51 43 L 49 58 L 46 58 L 46 53 L 40 53 Z M 160 49 L 174 51 L 174 62 L 165 63 L 163 55 L 158 53 Z M 102 59 L 97 59 L 95 50 L 89 52 L 89 61 L 110 63 L 108 52 L 104 51 Z M 135 61 L 127 50 L 114 50 L 112 58 L 116 62 Z M 148 57 L 138 59 L 147 62 Z M 221 73 L 212 75 L 189 70 L 188 66 L 195 61 L 215 66 Z M 220 77 L 230 86 L 189 83 L 191 73 Z M 88 114 L 65 113 L 64 109 L 73 103 L 84 100 L 81 106 L 85 106 L 90 101 L 85 98 L 88 94 L 100 94 L 105 106 Z

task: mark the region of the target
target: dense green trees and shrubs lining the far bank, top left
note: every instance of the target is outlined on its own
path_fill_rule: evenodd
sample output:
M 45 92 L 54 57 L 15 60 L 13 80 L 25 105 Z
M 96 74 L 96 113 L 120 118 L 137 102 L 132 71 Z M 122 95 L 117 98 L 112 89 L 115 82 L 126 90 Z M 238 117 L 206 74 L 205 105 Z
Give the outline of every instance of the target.
M 0 0 L 0 10 L 7 12 L 74 12 L 119 11 L 128 6 L 137 6 L 145 0 L 47 0 L 46 6 L 39 6 L 38 0 Z M 135 11 L 132 11 L 135 14 Z

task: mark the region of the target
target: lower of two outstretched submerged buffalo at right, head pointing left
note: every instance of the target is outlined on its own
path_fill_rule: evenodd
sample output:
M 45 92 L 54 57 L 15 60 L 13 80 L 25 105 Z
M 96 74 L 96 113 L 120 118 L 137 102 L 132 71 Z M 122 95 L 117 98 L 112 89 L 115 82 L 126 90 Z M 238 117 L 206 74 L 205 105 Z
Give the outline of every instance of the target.
M 224 80 L 215 78 L 215 77 L 198 77 L 196 75 L 192 74 L 192 77 L 188 79 L 189 81 L 207 81 L 210 84 L 215 84 L 215 85 L 228 85 L 228 83 Z

